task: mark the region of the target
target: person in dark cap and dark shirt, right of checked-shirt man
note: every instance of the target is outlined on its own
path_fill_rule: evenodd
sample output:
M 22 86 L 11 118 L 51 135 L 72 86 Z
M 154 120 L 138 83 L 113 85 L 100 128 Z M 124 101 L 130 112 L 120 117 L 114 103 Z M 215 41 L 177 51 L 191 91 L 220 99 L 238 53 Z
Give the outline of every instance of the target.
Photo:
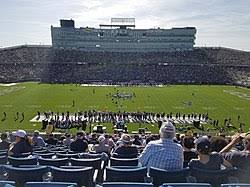
M 224 160 L 221 155 L 218 153 L 211 153 L 211 144 L 207 137 L 200 137 L 195 143 L 198 152 L 198 159 L 192 159 L 190 161 L 190 168 L 220 170 L 222 164 L 226 167 L 231 167 L 231 164 Z

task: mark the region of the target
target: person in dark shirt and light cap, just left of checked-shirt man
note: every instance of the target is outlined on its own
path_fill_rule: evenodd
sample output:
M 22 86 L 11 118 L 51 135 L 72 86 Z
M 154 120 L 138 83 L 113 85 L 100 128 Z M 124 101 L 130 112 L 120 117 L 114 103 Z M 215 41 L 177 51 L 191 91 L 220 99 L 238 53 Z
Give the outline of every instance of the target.
M 137 147 L 132 146 L 131 144 L 132 142 L 130 136 L 123 134 L 119 140 L 119 145 L 115 148 L 112 156 L 116 158 L 137 158 Z

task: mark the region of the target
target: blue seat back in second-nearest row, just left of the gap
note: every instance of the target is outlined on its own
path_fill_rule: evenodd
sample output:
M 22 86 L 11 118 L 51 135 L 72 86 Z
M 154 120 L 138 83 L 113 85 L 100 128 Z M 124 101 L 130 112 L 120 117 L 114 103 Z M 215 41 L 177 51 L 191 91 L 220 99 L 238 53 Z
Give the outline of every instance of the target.
M 80 186 L 94 187 L 93 175 L 94 169 L 92 167 L 85 167 L 80 169 L 64 169 L 51 167 L 53 181 L 55 182 L 74 182 Z

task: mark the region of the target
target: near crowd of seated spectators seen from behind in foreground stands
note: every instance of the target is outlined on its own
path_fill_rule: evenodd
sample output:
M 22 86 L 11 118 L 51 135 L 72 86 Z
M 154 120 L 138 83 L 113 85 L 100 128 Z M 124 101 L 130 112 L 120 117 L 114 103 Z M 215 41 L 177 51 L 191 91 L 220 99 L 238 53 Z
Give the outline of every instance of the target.
M 197 133 L 180 135 L 170 121 L 163 122 L 156 135 L 78 131 L 74 136 L 68 133 L 60 137 L 49 134 L 45 138 L 39 135 L 39 131 L 29 136 L 24 130 L 17 130 L 9 135 L 1 134 L 0 150 L 8 150 L 9 157 L 38 159 L 45 156 L 44 153 L 54 153 L 50 159 L 61 158 L 63 154 L 67 158 L 74 155 L 79 159 L 99 156 L 105 161 L 109 158 L 138 159 L 137 167 L 168 172 L 186 167 L 191 169 L 191 173 L 197 169 L 220 171 L 228 168 L 237 171 L 234 176 L 238 180 L 250 183 L 250 133 L 214 137 Z

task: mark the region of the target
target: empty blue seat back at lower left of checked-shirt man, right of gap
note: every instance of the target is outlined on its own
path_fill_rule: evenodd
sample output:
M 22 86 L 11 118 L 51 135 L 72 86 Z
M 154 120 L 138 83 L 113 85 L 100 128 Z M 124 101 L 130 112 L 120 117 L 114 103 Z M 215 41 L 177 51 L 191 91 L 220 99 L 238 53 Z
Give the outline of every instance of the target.
M 147 175 L 146 167 L 135 168 L 106 168 L 107 182 L 144 182 Z

